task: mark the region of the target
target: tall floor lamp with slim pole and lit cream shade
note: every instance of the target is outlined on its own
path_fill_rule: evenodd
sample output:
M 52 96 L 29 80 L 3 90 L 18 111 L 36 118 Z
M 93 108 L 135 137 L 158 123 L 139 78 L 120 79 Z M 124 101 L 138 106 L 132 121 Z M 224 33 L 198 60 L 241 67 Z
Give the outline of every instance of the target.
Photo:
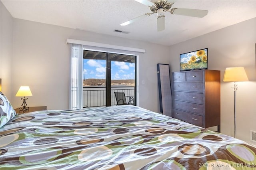
M 234 81 L 234 137 L 236 138 L 236 91 L 238 89 L 237 81 L 249 81 L 244 67 L 227 67 L 224 73 L 223 81 Z

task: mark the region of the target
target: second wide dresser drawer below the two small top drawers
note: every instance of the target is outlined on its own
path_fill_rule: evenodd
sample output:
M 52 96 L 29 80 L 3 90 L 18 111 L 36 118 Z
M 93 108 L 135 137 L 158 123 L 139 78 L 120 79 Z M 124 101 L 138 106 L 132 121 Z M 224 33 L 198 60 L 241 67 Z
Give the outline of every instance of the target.
M 190 101 L 193 103 L 204 103 L 204 95 L 203 93 L 190 93 L 190 92 L 182 92 L 182 91 L 173 91 L 172 99 Z

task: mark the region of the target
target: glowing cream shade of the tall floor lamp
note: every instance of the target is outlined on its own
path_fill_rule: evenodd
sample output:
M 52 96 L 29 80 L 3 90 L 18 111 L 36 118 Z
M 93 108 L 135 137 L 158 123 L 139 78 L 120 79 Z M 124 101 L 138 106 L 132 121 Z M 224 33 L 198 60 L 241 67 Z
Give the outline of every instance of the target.
M 244 67 L 227 67 L 223 81 L 249 81 Z

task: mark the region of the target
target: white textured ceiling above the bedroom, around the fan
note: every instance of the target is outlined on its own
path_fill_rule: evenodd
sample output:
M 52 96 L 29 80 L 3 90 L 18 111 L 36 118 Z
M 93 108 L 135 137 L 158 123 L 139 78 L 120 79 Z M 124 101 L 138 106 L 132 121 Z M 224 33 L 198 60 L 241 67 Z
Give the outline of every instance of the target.
M 208 10 L 204 18 L 165 14 L 157 32 L 155 15 L 120 26 L 150 8 L 134 0 L 1 0 L 14 18 L 172 45 L 256 17 L 256 0 L 177 0 L 172 7 Z M 153 0 L 154 1 L 154 0 Z M 122 34 L 114 30 L 130 32 Z

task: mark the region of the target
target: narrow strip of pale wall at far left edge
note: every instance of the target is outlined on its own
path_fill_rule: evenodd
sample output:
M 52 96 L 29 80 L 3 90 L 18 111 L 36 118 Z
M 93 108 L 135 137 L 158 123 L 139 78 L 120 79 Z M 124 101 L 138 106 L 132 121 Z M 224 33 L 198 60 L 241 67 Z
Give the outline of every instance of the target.
M 2 92 L 12 99 L 12 21 L 13 18 L 0 1 L 0 78 Z

